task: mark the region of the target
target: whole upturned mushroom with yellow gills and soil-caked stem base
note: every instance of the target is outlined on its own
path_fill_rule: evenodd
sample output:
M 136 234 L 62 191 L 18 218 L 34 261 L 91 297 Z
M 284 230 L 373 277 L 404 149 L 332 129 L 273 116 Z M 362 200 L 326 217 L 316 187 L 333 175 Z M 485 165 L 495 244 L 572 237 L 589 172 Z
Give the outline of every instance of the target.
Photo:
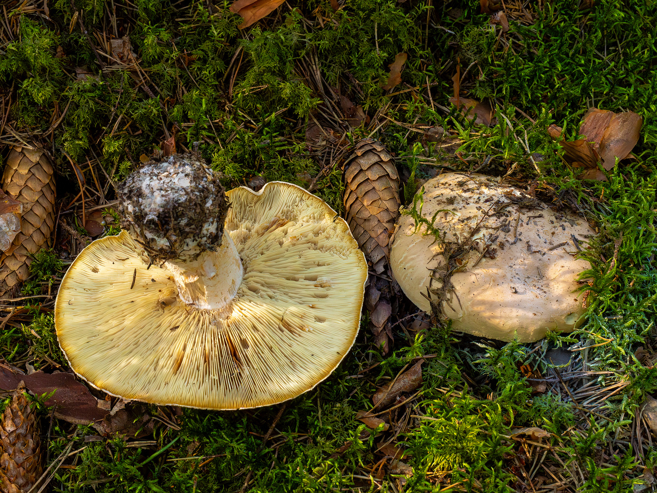
M 60 346 L 91 385 L 254 408 L 314 388 L 346 356 L 367 264 L 323 200 L 283 182 L 224 194 L 190 155 L 143 166 L 120 199 L 125 231 L 85 248 L 57 297 Z

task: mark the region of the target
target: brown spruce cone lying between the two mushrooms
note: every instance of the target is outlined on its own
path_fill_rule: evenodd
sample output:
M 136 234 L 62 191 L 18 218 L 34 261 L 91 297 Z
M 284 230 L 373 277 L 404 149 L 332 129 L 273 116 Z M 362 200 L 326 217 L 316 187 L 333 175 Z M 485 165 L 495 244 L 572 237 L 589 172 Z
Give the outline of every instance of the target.
M 344 208 L 351 234 L 374 272 L 386 270 L 388 242 L 399 216 L 399 175 L 386 148 L 363 139 L 345 164 Z

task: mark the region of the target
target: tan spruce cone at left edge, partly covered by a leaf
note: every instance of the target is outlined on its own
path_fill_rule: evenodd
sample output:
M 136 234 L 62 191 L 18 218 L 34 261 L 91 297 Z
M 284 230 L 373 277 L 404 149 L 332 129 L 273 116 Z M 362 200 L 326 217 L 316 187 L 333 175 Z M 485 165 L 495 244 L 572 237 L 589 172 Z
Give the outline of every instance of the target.
M 3 174 L 3 190 L 23 204 L 21 230 L 0 256 L 0 298 L 10 298 L 30 276 L 31 255 L 47 247 L 55 227 L 55 176 L 40 150 L 13 147 Z

